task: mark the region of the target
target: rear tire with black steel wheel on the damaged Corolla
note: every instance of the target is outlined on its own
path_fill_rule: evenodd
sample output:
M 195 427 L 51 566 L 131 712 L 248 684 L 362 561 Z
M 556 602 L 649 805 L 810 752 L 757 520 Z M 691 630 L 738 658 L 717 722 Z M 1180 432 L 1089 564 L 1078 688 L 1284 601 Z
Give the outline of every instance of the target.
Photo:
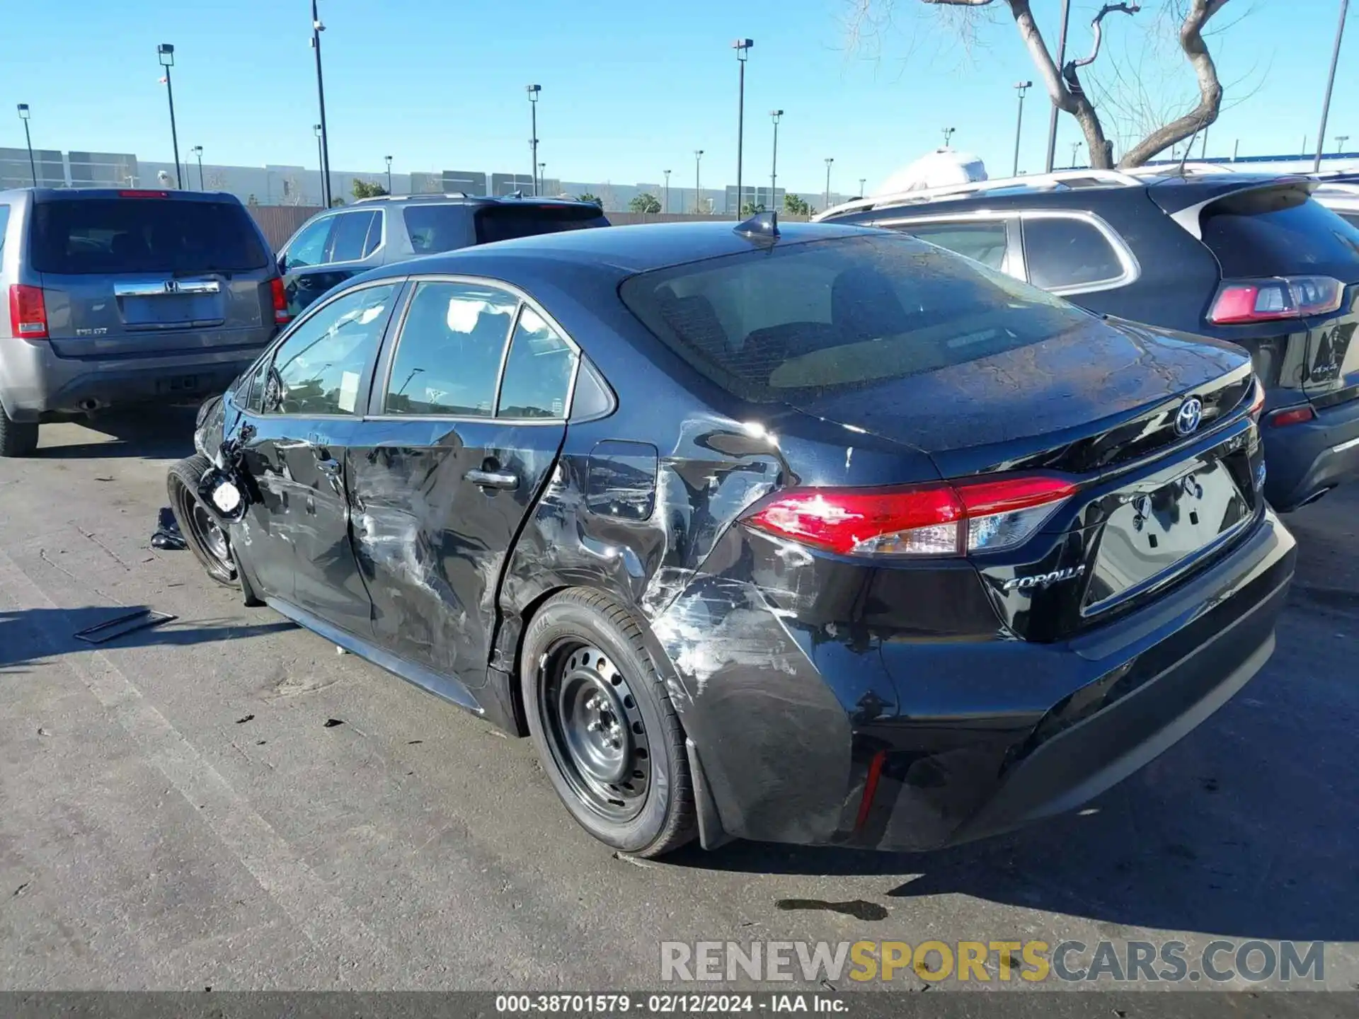
M 636 856 L 694 838 L 684 727 L 632 613 L 595 591 L 553 595 L 525 633 L 519 686 L 542 768 L 586 832 Z

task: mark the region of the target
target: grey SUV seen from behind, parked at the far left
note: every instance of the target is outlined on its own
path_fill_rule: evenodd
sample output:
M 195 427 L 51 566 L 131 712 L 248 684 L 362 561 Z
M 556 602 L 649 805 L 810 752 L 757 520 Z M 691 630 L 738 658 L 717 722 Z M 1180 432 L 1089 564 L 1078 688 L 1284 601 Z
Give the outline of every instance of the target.
M 220 391 L 288 318 L 254 220 L 204 192 L 0 192 L 0 457 L 42 421 Z

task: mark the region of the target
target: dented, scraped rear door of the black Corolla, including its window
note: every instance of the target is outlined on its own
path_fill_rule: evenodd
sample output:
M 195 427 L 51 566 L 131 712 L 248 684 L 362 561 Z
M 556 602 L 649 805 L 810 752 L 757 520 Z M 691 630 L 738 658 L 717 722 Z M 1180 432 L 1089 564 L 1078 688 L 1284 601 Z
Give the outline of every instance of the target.
M 496 284 L 414 284 L 349 451 L 355 549 L 386 649 L 484 685 L 500 572 L 561 448 L 575 364 Z

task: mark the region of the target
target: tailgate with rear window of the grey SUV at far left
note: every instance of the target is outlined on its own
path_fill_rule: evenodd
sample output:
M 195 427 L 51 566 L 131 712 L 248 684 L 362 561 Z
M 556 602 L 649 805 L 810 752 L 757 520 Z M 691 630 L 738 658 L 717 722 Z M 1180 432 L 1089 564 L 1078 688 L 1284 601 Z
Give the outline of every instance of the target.
M 273 266 L 234 200 L 185 192 L 39 198 L 29 255 L 60 357 L 232 352 L 273 334 Z

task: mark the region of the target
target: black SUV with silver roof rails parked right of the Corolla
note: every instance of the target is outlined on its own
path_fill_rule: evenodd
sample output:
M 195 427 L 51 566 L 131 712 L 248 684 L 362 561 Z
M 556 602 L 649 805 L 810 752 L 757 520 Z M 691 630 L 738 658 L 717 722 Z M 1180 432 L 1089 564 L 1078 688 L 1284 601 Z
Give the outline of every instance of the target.
M 1359 477 L 1359 230 L 1306 178 L 1074 170 L 878 196 L 821 219 L 909 232 L 1090 308 L 1230 340 L 1265 383 L 1265 493 Z

